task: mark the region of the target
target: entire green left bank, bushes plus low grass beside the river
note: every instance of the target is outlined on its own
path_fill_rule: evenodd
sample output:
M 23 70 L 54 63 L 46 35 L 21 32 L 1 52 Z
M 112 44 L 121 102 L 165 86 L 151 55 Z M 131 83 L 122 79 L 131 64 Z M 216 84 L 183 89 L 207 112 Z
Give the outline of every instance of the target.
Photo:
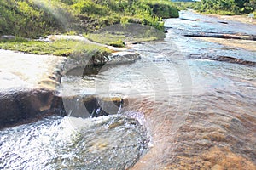
M 40 42 L 17 37 L 83 34 L 94 42 L 124 47 L 126 41 L 162 39 L 162 18 L 171 17 L 178 17 L 178 11 L 168 0 L 2 0 L 0 37 L 16 38 L 0 38 L 0 48 L 68 57 L 108 54 L 108 48 L 84 42 Z

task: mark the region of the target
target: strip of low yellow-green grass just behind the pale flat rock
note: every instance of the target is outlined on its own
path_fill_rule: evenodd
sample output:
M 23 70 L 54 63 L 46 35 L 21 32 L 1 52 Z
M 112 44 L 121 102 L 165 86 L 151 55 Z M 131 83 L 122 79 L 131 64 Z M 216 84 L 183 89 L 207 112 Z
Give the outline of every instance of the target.
M 0 48 L 28 54 L 53 54 L 66 57 L 92 56 L 98 53 L 109 54 L 111 52 L 108 48 L 102 46 L 71 40 L 58 40 L 55 42 L 9 40 L 0 42 Z

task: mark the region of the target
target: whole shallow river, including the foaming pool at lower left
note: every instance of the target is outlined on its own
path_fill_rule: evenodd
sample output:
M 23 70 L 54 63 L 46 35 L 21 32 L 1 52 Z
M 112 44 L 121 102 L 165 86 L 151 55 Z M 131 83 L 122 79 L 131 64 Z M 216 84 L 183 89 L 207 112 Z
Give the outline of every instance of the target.
M 184 35 L 256 35 L 256 26 L 180 18 L 166 20 L 165 41 L 132 46 L 137 62 L 62 78 L 64 95 L 121 97 L 118 115 L 3 129 L 0 168 L 255 169 L 256 52 Z

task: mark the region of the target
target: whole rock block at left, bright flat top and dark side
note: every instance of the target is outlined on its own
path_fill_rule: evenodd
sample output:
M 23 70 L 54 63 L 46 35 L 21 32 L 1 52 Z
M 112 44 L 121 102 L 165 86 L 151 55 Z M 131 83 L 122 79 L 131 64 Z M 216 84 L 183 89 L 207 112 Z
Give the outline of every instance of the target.
M 62 112 L 57 89 L 64 58 L 0 52 L 0 128 Z

